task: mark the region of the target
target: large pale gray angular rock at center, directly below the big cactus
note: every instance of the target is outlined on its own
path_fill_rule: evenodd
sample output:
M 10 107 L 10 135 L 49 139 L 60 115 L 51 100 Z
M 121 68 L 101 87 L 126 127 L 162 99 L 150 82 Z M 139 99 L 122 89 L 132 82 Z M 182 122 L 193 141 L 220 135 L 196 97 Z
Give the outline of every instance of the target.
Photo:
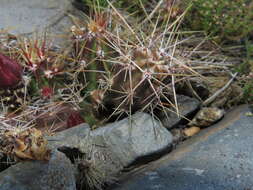
M 126 118 L 93 131 L 84 124 L 48 140 L 51 148 L 78 148 L 101 170 L 113 175 L 138 158 L 165 150 L 172 143 L 172 135 L 150 115 L 136 113 L 131 124 Z

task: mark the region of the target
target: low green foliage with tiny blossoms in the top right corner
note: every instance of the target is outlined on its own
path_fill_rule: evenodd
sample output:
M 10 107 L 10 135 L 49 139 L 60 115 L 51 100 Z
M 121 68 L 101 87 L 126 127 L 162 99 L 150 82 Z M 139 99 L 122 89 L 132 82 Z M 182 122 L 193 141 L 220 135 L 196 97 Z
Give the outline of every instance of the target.
M 252 35 L 253 3 L 250 0 L 193 0 L 190 25 L 219 40 L 240 40 Z

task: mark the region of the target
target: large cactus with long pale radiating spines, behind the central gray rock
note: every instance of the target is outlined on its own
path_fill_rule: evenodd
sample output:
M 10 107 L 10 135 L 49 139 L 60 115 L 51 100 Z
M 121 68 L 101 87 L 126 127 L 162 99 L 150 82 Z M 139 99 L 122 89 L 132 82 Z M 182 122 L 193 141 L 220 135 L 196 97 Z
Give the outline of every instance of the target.
M 76 75 L 84 76 L 79 81 L 92 114 L 109 121 L 138 110 L 177 109 L 177 81 L 199 76 L 177 50 L 184 14 L 176 22 L 143 24 L 108 4 L 111 11 L 95 11 L 88 23 L 77 21 L 71 28 L 74 59 L 85 62 Z

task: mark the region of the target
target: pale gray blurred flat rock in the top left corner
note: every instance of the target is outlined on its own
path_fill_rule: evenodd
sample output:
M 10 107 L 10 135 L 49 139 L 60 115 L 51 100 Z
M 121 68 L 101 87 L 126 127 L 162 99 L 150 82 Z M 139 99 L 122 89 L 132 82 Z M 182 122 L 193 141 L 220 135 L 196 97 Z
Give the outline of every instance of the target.
M 12 0 L 11 2 L 2 0 L 0 29 L 5 29 L 14 35 L 49 29 L 54 37 L 63 36 L 72 25 L 71 19 L 66 16 L 67 12 L 74 10 L 72 2 L 73 0 Z

